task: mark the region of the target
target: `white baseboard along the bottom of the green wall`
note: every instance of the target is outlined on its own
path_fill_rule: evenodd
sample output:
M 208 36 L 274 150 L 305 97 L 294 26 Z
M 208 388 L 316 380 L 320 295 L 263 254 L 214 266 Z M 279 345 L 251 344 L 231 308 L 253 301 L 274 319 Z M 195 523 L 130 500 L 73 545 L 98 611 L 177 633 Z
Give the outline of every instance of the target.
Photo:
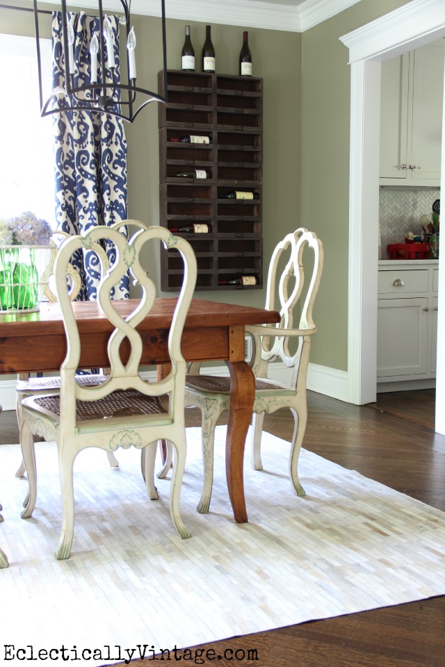
M 228 375 L 229 370 L 225 363 L 221 365 L 208 366 L 205 369 L 208 375 Z M 284 363 L 273 363 L 270 365 L 270 378 L 289 384 L 291 380 L 291 369 Z M 156 379 L 156 372 L 145 371 L 141 373 L 145 379 Z M 0 380 L 0 405 L 3 410 L 15 410 L 15 379 Z M 307 373 L 307 388 L 319 394 L 337 398 L 347 402 L 348 397 L 348 373 L 335 368 L 327 368 L 314 363 L 309 363 Z

